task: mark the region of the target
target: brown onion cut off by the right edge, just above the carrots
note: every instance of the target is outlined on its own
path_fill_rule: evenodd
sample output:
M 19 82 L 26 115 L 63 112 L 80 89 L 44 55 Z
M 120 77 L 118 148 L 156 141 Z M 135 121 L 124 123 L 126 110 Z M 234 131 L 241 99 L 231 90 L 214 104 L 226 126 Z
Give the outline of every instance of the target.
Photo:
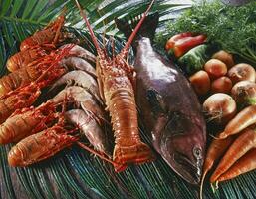
M 231 90 L 232 98 L 241 106 L 256 104 L 256 83 L 240 81 Z

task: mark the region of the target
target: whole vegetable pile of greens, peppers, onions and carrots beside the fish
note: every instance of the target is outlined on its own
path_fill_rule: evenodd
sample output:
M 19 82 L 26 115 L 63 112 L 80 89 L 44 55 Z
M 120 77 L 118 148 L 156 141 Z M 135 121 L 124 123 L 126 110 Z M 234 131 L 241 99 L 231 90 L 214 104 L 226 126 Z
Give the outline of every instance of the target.
M 208 130 L 214 132 L 201 195 L 211 169 L 214 185 L 256 169 L 255 19 L 255 1 L 242 7 L 219 2 L 195 5 L 168 25 L 167 36 L 161 33 L 157 38 L 165 38 L 168 55 L 189 77 L 203 103 Z M 186 48 L 177 53 L 180 40 L 186 41 Z

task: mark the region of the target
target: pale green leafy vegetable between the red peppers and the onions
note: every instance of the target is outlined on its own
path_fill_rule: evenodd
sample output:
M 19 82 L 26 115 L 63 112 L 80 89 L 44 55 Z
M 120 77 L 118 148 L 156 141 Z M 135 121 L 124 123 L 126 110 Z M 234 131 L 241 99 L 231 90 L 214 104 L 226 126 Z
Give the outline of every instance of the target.
M 194 47 L 185 55 L 178 59 L 178 63 L 185 68 L 188 74 L 192 74 L 201 70 L 208 59 L 206 50 L 208 46 L 205 44 Z

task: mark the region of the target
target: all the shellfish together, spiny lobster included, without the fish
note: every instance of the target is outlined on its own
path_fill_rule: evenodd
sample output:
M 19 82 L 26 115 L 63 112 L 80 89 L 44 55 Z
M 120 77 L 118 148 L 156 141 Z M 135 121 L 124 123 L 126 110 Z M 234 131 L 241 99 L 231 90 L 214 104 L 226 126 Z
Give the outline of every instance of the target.
M 21 51 L 7 62 L 10 73 L 0 80 L 0 143 L 16 143 L 9 164 L 27 166 L 73 143 L 111 162 L 117 172 L 130 163 L 151 161 L 151 149 L 138 134 L 134 72 L 126 61 L 129 45 L 111 59 L 90 29 L 99 55 L 96 64 L 96 56 L 86 49 L 61 46 L 66 39 L 63 25 L 61 15 L 22 41 Z M 105 109 L 114 129 L 113 159 L 102 128 L 110 125 Z M 94 149 L 79 141 L 82 135 Z

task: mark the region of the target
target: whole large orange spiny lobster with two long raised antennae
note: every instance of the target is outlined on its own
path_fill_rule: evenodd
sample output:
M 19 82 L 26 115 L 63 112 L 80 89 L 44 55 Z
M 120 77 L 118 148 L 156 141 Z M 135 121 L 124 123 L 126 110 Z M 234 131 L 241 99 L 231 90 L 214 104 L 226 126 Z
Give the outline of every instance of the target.
M 137 110 L 134 99 L 135 73 L 126 61 L 128 48 L 136 32 L 149 12 L 154 0 L 143 14 L 143 17 L 130 35 L 126 46 L 113 59 L 100 48 L 91 25 L 76 0 L 77 6 L 91 34 L 98 53 L 97 75 L 100 95 L 105 100 L 111 115 L 115 135 L 113 161 L 115 170 L 123 171 L 128 164 L 142 164 L 153 159 L 150 148 L 140 140 L 137 122 Z

